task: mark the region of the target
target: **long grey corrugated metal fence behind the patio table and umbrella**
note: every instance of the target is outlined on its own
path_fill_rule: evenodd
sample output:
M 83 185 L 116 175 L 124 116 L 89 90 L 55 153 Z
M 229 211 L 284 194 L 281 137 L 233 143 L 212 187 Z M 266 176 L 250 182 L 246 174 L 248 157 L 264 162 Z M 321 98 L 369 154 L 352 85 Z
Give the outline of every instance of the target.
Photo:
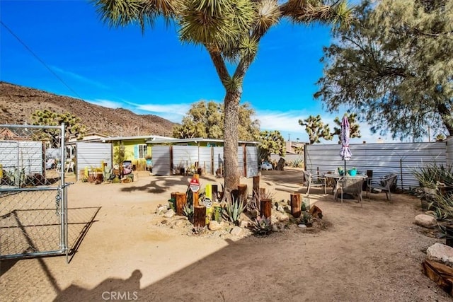
M 324 174 L 343 167 L 340 158 L 340 145 L 306 146 L 306 170 Z M 352 158 L 346 161 L 346 169 L 355 167 L 358 173 L 373 171 L 373 178 L 381 178 L 389 173 L 398 173 L 398 187 L 410 189 L 418 187 L 413 169 L 426 164 L 445 164 L 444 142 L 431 143 L 391 143 L 391 144 L 351 144 Z

